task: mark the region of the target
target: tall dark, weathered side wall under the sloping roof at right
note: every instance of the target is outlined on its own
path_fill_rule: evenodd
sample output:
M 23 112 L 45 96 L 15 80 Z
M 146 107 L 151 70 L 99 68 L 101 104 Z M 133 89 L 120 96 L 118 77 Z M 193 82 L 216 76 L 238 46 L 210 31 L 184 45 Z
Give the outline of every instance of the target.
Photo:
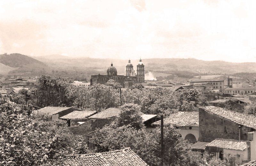
M 211 142 L 217 138 L 239 140 L 239 124 L 221 118 L 199 108 L 199 141 Z M 247 133 L 254 131 L 241 126 L 241 140 L 247 140 Z

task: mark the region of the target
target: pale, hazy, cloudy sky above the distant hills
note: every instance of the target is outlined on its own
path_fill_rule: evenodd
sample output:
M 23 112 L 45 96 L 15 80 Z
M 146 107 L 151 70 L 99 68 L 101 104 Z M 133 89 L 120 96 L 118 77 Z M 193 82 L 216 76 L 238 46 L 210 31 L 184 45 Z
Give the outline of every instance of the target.
M 255 0 L 1 0 L 0 54 L 256 62 Z

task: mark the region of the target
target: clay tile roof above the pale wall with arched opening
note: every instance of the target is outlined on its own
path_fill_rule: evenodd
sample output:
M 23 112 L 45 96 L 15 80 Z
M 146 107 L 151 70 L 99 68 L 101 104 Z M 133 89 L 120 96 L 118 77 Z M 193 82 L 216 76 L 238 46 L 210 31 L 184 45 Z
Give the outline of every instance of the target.
M 155 125 L 160 125 L 161 120 L 154 122 Z M 178 127 L 199 124 L 198 112 L 176 112 L 164 119 L 165 124 L 175 124 Z

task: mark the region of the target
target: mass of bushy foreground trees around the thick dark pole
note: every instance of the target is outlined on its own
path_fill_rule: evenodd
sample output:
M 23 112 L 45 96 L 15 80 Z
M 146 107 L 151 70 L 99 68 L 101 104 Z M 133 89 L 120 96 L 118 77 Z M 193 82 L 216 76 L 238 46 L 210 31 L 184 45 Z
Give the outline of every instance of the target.
M 96 129 L 89 141 L 98 145 L 101 152 L 131 147 L 144 161 L 151 166 L 189 165 L 191 161 L 191 147 L 181 138 L 173 127 L 164 128 L 164 156 L 161 156 L 160 130 L 152 132 L 144 129 L 136 130 L 131 125 L 117 127 L 110 124 L 102 129 Z

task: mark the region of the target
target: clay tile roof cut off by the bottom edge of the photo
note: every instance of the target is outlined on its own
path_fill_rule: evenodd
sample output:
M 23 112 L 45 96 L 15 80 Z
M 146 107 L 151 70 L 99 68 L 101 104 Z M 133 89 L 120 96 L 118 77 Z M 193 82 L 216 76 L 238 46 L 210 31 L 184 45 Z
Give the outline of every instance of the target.
M 102 153 L 68 156 L 61 163 L 48 163 L 45 166 L 55 165 L 93 165 L 93 166 L 148 166 L 130 147 Z

